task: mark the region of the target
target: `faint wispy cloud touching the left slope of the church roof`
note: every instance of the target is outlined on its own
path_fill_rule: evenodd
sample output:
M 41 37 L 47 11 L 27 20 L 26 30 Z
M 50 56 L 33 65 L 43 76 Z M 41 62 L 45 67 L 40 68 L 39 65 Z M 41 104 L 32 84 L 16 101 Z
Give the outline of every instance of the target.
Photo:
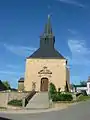
M 10 44 L 4 44 L 4 47 L 11 51 L 12 53 L 20 56 L 27 57 L 28 55 L 32 54 L 36 48 L 34 47 L 27 47 L 27 46 L 15 46 Z

